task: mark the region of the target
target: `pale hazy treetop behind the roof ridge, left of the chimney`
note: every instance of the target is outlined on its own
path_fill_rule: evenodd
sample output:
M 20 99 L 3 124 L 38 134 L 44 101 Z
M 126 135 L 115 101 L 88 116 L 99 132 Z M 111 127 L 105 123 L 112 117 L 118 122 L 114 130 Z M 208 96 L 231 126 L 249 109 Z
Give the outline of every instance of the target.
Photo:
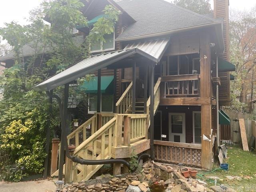
M 212 12 L 210 0 L 174 0 L 173 3 L 202 15 Z

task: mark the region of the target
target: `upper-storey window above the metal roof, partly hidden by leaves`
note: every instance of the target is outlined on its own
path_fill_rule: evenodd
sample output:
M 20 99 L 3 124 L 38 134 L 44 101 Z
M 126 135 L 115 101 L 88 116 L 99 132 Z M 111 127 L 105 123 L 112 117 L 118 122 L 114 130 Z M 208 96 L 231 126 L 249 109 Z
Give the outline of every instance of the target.
M 114 33 L 104 35 L 105 42 L 98 40 L 91 45 L 92 52 L 106 51 L 114 49 Z

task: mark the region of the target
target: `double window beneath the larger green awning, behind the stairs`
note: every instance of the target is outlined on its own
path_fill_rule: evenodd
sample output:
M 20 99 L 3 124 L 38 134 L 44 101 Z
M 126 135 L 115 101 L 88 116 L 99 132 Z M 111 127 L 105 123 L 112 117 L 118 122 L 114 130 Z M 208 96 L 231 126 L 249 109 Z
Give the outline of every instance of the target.
M 97 94 L 89 94 L 88 98 L 88 113 L 97 112 Z M 101 94 L 101 112 L 113 112 L 113 95 L 102 93 Z

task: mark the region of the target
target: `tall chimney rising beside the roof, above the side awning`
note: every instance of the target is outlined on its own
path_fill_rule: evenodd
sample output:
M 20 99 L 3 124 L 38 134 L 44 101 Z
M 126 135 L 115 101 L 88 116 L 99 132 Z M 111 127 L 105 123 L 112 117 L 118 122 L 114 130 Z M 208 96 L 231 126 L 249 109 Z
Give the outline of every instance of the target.
M 229 0 L 214 0 L 214 18 L 223 20 L 223 37 L 225 51 L 221 58 L 229 61 Z

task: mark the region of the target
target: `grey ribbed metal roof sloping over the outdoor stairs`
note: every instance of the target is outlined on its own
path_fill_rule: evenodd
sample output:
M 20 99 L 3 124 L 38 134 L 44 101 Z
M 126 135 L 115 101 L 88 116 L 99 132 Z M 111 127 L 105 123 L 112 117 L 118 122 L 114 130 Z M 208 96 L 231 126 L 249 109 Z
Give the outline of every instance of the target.
M 128 45 L 124 50 L 91 56 L 38 84 L 34 89 L 38 91 L 52 90 L 134 54 L 140 54 L 154 62 L 159 62 L 169 41 L 169 39 L 152 40 Z

